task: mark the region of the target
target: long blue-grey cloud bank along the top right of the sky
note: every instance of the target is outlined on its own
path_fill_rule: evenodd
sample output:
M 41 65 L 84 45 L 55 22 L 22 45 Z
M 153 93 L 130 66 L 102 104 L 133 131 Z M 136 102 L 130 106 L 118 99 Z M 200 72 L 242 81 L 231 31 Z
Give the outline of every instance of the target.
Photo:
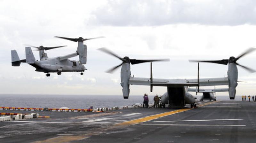
M 108 26 L 255 25 L 255 4 L 254 0 L 109 0 L 92 12 L 91 22 Z

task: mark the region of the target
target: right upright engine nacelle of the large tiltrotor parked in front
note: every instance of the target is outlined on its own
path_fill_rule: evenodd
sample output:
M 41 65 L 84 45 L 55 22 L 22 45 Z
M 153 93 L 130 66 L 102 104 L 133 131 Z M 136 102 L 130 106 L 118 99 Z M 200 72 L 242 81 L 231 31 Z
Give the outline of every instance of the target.
M 236 86 L 237 86 L 238 72 L 236 64 L 228 64 L 228 94 L 230 99 L 235 99 L 236 96 Z

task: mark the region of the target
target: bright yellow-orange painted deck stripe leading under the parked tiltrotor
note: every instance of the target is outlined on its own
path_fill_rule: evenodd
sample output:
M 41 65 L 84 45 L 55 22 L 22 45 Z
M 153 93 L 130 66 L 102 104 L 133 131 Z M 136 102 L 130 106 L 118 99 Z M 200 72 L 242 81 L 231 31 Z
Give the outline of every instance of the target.
M 209 105 L 209 104 L 212 104 L 212 103 L 216 103 L 216 102 L 207 102 L 207 103 L 199 105 L 198 107 L 202 107 L 202 106 Z M 154 120 L 154 119 L 157 119 L 157 118 L 160 118 L 160 117 L 169 116 L 169 115 L 173 115 L 173 114 L 176 114 L 176 113 L 188 111 L 188 110 L 191 110 L 191 109 L 193 109 L 193 108 L 178 109 L 178 110 L 174 110 L 174 111 L 170 111 L 170 112 L 165 112 L 165 113 L 161 113 L 161 114 L 151 115 L 151 116 L 144 117 L 144 118 L 139 118 L 139 119 L 134 119 L 134 120 L 130 120 L 130 121 L 125 121 L 123 123 L 118 123 L 116 125 L 138 124 L 138 123 L 146 122 L 146 121 L 149 121 L 149 120 Z

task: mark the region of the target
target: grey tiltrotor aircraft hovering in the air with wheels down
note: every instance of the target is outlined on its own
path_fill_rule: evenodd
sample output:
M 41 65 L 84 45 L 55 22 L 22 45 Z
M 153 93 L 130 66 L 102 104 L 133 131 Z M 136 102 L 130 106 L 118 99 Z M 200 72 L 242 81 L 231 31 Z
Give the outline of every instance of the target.
M 58 56 L 53 58 L 48 58 L 47 53 L 44 52 L 44 50 L 54 49 L 54 48 L 60 48 L 64 46 L 59 47 L 34 47 L 39 50 L 39 58 L 40 60 L 36 60 L 35 56 L 31 50 L 30 47 L 26 47 L 26 59 L 20 60 L 18 53 L 16 50 L 11 51 L 12 55 L 12 66 L 20 66 L 20 63 L 27 63 L 31 66 L 36 68 L 36 72 L 44 72 L 47 73 L 46 76 L 49 77 L 49 72 L 57 72 L 58 75 L 61 74 L 61 72 L 81 72 L 81 75 L 83 75 L 84 70 L 86 68 L 83 64 L 86 64 L 87 61 L 87 47 L 84 45 L 84 41 L 90 40 L 90 39 L 96 39 L 96 38 L 102 38 L 102 37 L 96 37 L 96 38 L 90 38 L 90 39 L 83 39 L 82 37 L 79 38 L 65 38 L 65 37 L 58 37 L 58 38 L 64 38 L 71 41 L 78 41 L 78 47 L 77 51 L 75 53 L 71 53 L 65 56 Z M 79 61 L 75 60 L 69 60 L 68 58 L 75 57 L 79 55 Z

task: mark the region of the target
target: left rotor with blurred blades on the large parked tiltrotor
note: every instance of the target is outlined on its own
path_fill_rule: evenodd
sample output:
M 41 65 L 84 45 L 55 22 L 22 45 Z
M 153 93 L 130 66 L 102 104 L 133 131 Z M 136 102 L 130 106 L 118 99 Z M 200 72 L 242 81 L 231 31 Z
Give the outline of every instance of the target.
M 120 56 L 116 55 L 114 52 L 108 50 L 107 48 L 100 48 L 99 50 L 109 54 L 109 55 L 112 55 L 112 56 L 115 56 L 116 58 L 120 59 L 122 61 L 121 64 L 109 69 L 108 73 L 112 73 L 114 72 L 118 67 L 120 67 L 122 64 L 124 63 L 127 63 L 127 64 L 140 64 L 140 63 L 146 63 L 146 62 L 156 62 L 156 61 L 170 61 L 169 59 L 157 59 L 157 60 L 137 60 L 137 59 L 130 59 L 128 56 L 125 56 L 124 58 L 121 58 Z

